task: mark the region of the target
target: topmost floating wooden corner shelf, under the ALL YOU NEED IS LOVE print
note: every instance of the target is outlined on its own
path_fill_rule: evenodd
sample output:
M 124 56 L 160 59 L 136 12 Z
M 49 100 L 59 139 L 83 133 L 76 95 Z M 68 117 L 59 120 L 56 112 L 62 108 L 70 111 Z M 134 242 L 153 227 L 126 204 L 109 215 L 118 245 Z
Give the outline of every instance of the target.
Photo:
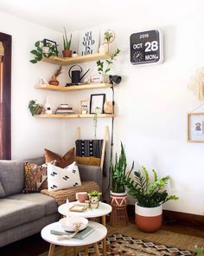
M 43 57 L 43 62 L 49 62 L 52 64 L 57 65 L 70 65 L 75 63 L 82 63 L 82 62 L 93 62 L 98 61 L 99 59 L 108 59 L 111 57 L 110 53 L 96 53 L 87 56 L 76 56 L 70 58 L 62 58 L 57 56 L 50 56 L 49 58 Z

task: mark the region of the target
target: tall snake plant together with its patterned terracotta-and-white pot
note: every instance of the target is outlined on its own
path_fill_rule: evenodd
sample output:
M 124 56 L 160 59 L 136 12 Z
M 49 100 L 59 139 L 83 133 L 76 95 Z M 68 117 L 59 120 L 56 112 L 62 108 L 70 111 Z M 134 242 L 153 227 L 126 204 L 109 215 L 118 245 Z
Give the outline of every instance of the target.
M 131 182 L 131 171 L 134 168 L 134 161 L 131 165 L 131 170 L 126 171 L 127 161 L 124 152 L 124 145 L 121 142 L 121 151 L 118 158 L 116 153 L 115 164 L 111 163 L 111 205 L 112 207 L 125 207 L 127 204 L 127 193 L 125 191 L 126 184 Z

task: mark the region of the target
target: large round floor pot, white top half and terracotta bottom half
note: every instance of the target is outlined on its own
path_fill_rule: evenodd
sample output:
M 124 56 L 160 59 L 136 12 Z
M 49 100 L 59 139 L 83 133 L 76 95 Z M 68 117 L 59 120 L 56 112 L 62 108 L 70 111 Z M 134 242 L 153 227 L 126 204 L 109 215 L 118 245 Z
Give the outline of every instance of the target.
M 139 207 L 135 205 L 135 220 L 143 232 L 155 232 L 163 224 L 163 207 Z

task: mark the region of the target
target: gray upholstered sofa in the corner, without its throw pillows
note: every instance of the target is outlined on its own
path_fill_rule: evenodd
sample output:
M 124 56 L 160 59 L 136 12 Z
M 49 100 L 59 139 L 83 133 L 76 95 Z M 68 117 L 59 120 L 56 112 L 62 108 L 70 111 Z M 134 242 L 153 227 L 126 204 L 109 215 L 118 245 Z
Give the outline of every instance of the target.
M 44 158 L 29 160 L 38 165 Z M 54 198 L 41 194 L 22 194 L 24 161 L 0 161 L 0 247 L 39 233 L 43 226 L 59 220 Z M 96 181 L 101 186 L 99 168 L 79 167 L 81 181 Z

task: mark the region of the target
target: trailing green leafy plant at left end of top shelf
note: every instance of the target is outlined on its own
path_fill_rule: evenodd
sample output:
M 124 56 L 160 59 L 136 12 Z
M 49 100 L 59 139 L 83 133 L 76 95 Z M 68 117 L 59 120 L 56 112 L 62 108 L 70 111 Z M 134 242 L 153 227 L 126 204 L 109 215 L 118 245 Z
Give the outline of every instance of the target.
M 43 47 L 48 47 L 48 53 L 43 52 Z M 46 58 L 50 56 L 57 56 L 58 50 L 56 49 L 56 45 L 53 43 L 47 42 L 46 45 L 44 45 L 43 41 L 37 41 L 35 42 L 35 49 L 32 49 L 30 53 L 32 53 L 35 58 L 29 62 L 36 63 L 40 62 L 43 56 Z

